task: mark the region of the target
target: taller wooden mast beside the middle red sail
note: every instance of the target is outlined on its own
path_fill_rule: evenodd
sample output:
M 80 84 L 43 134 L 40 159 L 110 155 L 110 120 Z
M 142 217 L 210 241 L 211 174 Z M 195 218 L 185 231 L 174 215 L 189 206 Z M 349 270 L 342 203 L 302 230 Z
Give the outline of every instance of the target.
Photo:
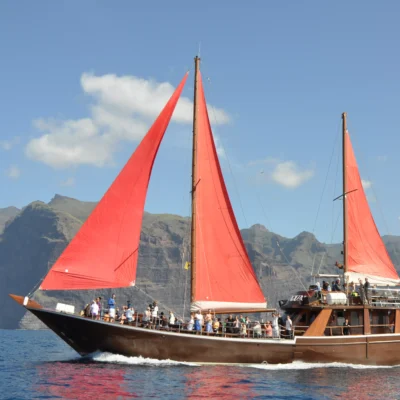
M 194 289 L 196 279 L 196 157 L 197 157 L 197 72 L 200 67 L 200 57 L 194 58 L 194 98 L 193 98 L 193 153 L 192 153 L 192 229 L 191 229 L 191 262 L 190 262 L 190 280 L 191 296 L 194 301 Z

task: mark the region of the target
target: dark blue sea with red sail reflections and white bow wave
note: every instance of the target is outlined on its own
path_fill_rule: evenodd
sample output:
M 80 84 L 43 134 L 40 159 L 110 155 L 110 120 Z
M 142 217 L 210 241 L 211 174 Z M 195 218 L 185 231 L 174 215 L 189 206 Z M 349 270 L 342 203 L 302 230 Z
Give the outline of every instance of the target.
M 94 354 L 0 330 L 0 399 L 400 399 L 400 367 L 191 365 Z

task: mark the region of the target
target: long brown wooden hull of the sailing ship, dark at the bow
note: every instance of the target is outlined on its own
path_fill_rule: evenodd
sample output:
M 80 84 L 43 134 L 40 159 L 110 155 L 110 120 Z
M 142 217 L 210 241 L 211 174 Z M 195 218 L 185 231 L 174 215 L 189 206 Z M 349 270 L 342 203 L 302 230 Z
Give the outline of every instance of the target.
M 400 334 L 236 339 L 144 329 L 28 309 L 81 355 L 103 351 L 198 363 L 400 364 Z

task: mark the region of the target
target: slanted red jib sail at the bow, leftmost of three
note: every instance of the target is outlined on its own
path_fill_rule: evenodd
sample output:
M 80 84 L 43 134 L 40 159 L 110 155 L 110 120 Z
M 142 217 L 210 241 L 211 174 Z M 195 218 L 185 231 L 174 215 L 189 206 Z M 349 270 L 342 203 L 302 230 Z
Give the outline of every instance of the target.
M 41 289 L 135 284 L 140 231 L 154 159 L 187 75 L 113 184 L 44 279 Z

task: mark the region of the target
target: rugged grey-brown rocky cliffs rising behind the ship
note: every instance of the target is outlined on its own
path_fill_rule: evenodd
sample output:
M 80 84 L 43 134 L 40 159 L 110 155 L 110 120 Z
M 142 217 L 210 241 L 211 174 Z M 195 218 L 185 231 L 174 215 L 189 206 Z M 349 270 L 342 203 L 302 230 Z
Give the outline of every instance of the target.
M 81 202 L 56 195 L 48 204 L 34 202 L 7 222 L 0 236 L 0 328 L 40 328 L 36 318 L 8 297 L 8 293 L 26 295 L 36 289 L 48 268 L 61 254 L 81 224 L 95 207 L 94 202 Z M 302 232 L 289 239 L 268 231 L 262 225 L 242 230 L 249 256 L 269 305 L 307 287 L 311 273 L 336 272 L 340 245 L 325 245 L 314 235 Z M 130 299 L 139 310 L 157 299 L 161 309 L 174 309 L 187 315 L 190 273 L 183 269 L 188 254 L 190 219 L 169 214 L 148 214 L 143 221 L 136 287 L 113 290 L 117 303 Z M 400 264 L 400 238 L 385 237 L 388 251 Z M 110 290 L 34 292 L 34 298 L 45 306 L 57 302 L 84 307 L 94 297 L 104 299 Z

